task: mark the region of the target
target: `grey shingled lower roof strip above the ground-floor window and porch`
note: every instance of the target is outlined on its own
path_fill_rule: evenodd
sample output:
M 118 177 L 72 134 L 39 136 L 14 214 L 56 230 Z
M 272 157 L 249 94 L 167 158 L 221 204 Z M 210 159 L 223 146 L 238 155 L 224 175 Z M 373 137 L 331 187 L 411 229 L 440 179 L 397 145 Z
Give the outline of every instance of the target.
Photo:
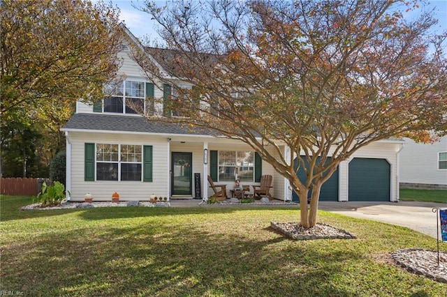
M 119 116 L 112 114 L 73 114 L 61 130 L 105 130 L 160 134 L 213 135 L 211 131 L 184 127 L 178 123 L 149 121 L 142 116 Z

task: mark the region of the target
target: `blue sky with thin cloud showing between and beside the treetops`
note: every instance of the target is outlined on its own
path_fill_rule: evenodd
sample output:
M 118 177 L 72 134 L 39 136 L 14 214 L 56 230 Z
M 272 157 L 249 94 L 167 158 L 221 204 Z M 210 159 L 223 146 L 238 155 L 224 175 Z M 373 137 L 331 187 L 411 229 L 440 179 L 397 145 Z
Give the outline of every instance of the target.
M 108 3 L 107 0 L 105 2 Z M 166 4 L 166 0 L 155 2 L 160 5 Z M 151 39 L 159 38 L 154 29 L 155 22 L 151 20 L 150 15 L 133 8 L 133 5 L 142 6 L 142 0 L 112 0 L 111 3 L 121 10 L 120 20 L 124 21 L 135 37 L 149 36 Z M 439 31 L 447 30 L 447 0 L 430 1 L 430 6 L 435 7 L 434 13 L 439 20 L 439 24 L 437 24 Z

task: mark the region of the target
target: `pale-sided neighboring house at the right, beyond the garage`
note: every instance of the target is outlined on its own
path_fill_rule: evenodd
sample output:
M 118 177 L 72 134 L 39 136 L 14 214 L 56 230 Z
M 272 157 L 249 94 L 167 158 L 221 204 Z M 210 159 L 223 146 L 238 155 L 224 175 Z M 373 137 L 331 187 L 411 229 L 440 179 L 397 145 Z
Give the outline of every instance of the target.
M 400 187 L 447 190 L 447 136 L 434 144 L 405 139 L 400 152 Z

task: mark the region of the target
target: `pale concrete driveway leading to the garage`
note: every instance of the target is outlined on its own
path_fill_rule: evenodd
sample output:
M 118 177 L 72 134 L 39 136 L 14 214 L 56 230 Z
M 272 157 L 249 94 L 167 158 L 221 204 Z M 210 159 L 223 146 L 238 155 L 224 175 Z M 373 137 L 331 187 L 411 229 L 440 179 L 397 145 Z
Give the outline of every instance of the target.
M 320 201 L 318 209 L 353 218 L 386 222 L 407 227 L 437 238 L 437 213 L 432 208 L 447 208 L 447 204 L 430 202 L 330 202 Z

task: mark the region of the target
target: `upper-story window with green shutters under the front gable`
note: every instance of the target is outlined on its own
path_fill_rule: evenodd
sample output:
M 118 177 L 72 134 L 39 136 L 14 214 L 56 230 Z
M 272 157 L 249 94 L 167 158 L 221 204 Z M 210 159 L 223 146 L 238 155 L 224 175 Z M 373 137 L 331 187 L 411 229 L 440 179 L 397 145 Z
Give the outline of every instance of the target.
M 103 100 L 102 107 L 94 107 L 94 112 L 112 112 L 117 114 L 142 114 L 154 110 L 154 84 L 126 80 L 112 89 L 111 95 Z M 145 99 L 148 100 L 145 100 Z

